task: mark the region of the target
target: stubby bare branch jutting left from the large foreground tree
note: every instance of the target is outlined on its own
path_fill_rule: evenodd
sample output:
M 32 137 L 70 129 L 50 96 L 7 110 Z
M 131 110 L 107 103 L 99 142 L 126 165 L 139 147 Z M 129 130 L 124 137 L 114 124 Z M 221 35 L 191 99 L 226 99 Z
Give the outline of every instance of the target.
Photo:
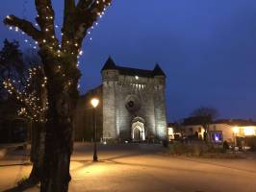
M 21 31 L 26 33 L 28 36 L 31 36 L 34 40 L 39 41 L 42 38 L 42 34 L 38 31 L 33 24 L 25 19 L 20 19 L 14 15 L 8 15 L 4 19 L 6 25 L 19 28 Z

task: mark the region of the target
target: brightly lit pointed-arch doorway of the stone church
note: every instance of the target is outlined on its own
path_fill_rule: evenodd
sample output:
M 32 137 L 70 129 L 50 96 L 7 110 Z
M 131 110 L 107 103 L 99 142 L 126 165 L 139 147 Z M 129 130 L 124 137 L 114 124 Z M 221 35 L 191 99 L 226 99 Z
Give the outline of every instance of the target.
M 136 121 L 137 120 L 137 121 Z M 140 119 L 135 119 L 132 123 L 132 140 L 133 141 L 144 141 L 145 140 L 145 129 L 144 123 L 139 121 Z

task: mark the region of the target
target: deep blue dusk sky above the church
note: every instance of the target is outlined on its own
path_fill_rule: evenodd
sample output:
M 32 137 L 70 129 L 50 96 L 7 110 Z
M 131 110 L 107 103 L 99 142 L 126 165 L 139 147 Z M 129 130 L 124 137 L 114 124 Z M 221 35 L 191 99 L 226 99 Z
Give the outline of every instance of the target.
M 4 1 L 10 13 L 33 19 L 34 1 Z M 53 0 L 61 24 L 64 0 Z M 0 40 L 24 36 L 0 24 Z M 100 84 L 109 55 L 116 64 L 166 72 L 168 121 L 201 106 L 217 108 L 219 118 L 256 119 L 255 0 L 113 0 L 85 41 L 81 90 Z M 2 46 L 2 44 L 1 44 Z

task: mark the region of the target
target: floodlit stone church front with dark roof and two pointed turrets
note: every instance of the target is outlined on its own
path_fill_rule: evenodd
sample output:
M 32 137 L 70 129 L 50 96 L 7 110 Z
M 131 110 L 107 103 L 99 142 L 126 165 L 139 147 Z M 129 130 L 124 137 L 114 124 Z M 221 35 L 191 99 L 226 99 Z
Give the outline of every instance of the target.
M 166 138 L 166 74 L 123 67 L 109 58 L 101 71 L 103 138 L 146 140 Z

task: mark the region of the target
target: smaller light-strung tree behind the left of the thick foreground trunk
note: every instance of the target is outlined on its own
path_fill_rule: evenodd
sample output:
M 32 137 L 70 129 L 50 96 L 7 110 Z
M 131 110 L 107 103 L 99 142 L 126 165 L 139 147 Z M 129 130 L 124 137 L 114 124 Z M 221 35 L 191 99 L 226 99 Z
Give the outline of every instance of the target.
M 42 177 L 47 111 L 47 92 L 45 86 L 41 86 L 45 84 L 44 78 L 43 69 L 38 65 L 29 69 L 29 77 L 24 87 L 11 79 L 4 81 L 5 88 L 12 95 L 13 100 L 21 106 L 17 111 L 18 115 L 27 119 L 31 132 L 33 168 L 28 180 L 20 183 L 20 189 L 37 184 Z

